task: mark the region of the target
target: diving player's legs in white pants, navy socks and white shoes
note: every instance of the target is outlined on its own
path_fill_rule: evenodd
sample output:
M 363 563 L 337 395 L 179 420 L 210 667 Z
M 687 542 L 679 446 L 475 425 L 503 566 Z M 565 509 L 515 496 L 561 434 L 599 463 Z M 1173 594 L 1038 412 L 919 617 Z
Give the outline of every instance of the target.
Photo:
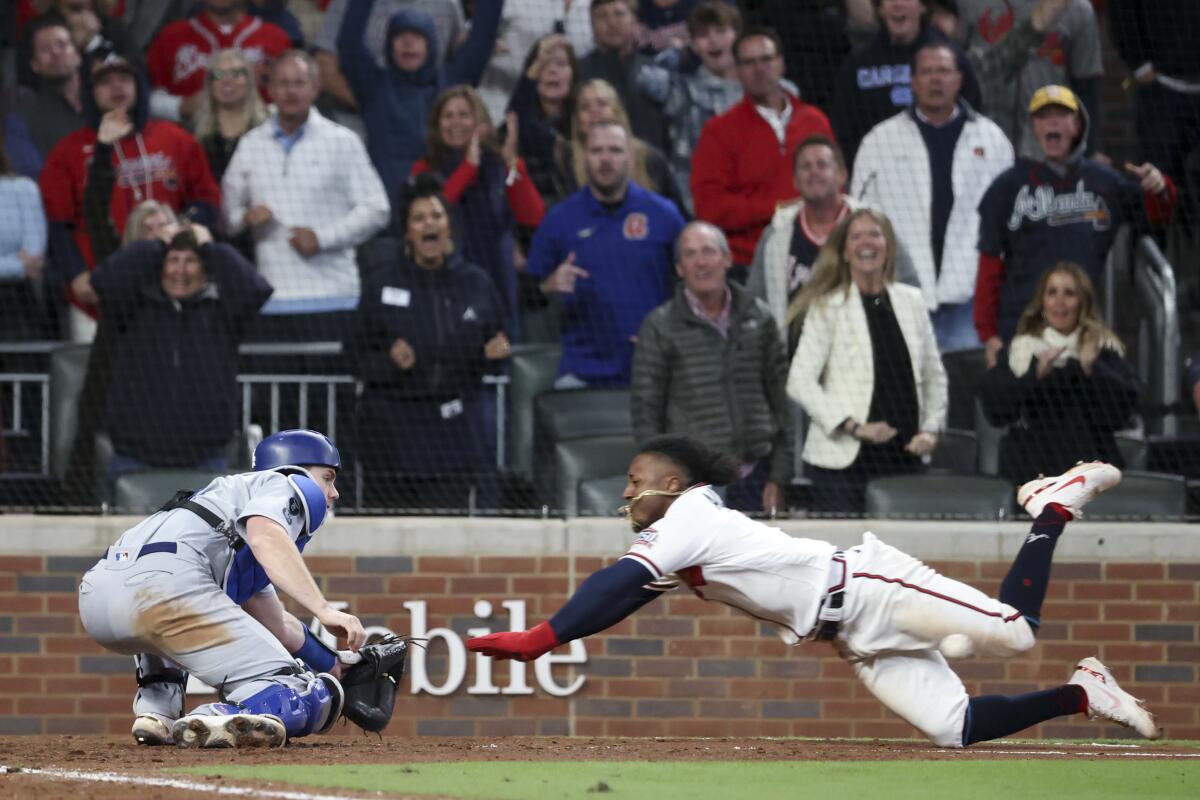
M 971 654 L 1007 657 L 1033 646 L 1058 536 L 1096 494 L 1120 480 L 1115 467 L 1093 462 L 1022 486 L 1018 501 L 1033 525 L 998 600 L 882 542 L 864 540 L 851 566 L 847 603 L 857 609 L 847 609 L 842 643 L 859 679 L 943 747 L 998 739 L 1074 714 L 1158 738 L 1153 715 L 1096 658 L 1079 662 L 1062 686 L 1013 697 L 968 697 L 946 662 L 946 656 Z

